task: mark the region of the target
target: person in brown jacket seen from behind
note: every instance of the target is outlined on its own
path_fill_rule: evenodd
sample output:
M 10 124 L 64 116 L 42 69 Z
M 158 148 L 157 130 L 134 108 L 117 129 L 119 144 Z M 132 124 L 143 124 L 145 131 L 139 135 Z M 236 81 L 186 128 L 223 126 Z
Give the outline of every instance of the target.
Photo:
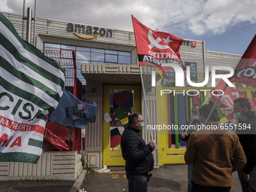
M 206 121 L 211 110 L 211 105 L 200 108 L 201 123 Z M 188 140 L 184 160 L 187 164 L 194 163 L 192 192 L 230 191 L 233 185 L 232 172 L 246 163 L 238 136 L 224 129 L 225 126 L 219 120 L 215 109 L 209 123 L 198 126 L 198 130 L 191 133 Z

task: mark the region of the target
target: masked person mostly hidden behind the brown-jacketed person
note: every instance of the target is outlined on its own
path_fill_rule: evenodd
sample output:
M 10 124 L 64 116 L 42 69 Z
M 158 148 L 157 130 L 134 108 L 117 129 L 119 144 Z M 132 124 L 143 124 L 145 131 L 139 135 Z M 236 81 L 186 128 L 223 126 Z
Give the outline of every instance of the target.
M 183 130 L 183 133 L 181 134 L 181 140 L 184 142 L 187 142 L 189 139 L 189 136 L 194 130 L 197 130 L 197 125 L 200 124 L 199 120 L 199 109 L 202 105 L 200 104 L 194 104 L 192 106 L 192 117 L 190 120 L 187 120 L 186 123 L 186 129 Z M 194 167 L 194 163 L 187 165 L 187 192 L 191 192 L 192 190 L 192 170 Z

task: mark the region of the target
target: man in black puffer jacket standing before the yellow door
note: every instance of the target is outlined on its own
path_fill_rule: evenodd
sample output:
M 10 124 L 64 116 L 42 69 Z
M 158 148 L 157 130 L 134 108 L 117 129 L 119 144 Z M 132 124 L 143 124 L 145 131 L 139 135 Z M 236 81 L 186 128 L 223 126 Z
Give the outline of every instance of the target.
M 156 142 L 145 144 L 139 135 L 143 125 L 142 114 L 130 114 L 129 125 L 123 131 L 120 143 L 123 159 L 126 160 L 125 170 L 130 192 L 148 191 L 148 172 L 154 166 L 152 151 L 156 148 Z

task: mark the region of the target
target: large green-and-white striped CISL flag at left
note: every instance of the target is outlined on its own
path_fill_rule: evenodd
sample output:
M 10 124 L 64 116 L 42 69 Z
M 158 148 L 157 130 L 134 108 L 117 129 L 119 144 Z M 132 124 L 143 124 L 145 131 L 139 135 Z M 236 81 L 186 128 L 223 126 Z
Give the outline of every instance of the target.
M 0 161 L 38 161 L 46 115 L 64 82 L 59 64 L 23 41 L 0 13 Z

